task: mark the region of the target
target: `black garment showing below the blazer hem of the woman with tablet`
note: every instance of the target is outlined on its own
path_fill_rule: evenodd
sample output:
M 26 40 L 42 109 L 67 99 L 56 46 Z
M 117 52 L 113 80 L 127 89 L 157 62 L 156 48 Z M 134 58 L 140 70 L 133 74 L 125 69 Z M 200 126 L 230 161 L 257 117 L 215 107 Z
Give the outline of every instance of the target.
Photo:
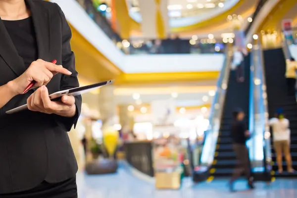
M 76 178 L 56 184 L 42 182 L 28 191 L 0 194 L 0 198 L 77 198 Z

